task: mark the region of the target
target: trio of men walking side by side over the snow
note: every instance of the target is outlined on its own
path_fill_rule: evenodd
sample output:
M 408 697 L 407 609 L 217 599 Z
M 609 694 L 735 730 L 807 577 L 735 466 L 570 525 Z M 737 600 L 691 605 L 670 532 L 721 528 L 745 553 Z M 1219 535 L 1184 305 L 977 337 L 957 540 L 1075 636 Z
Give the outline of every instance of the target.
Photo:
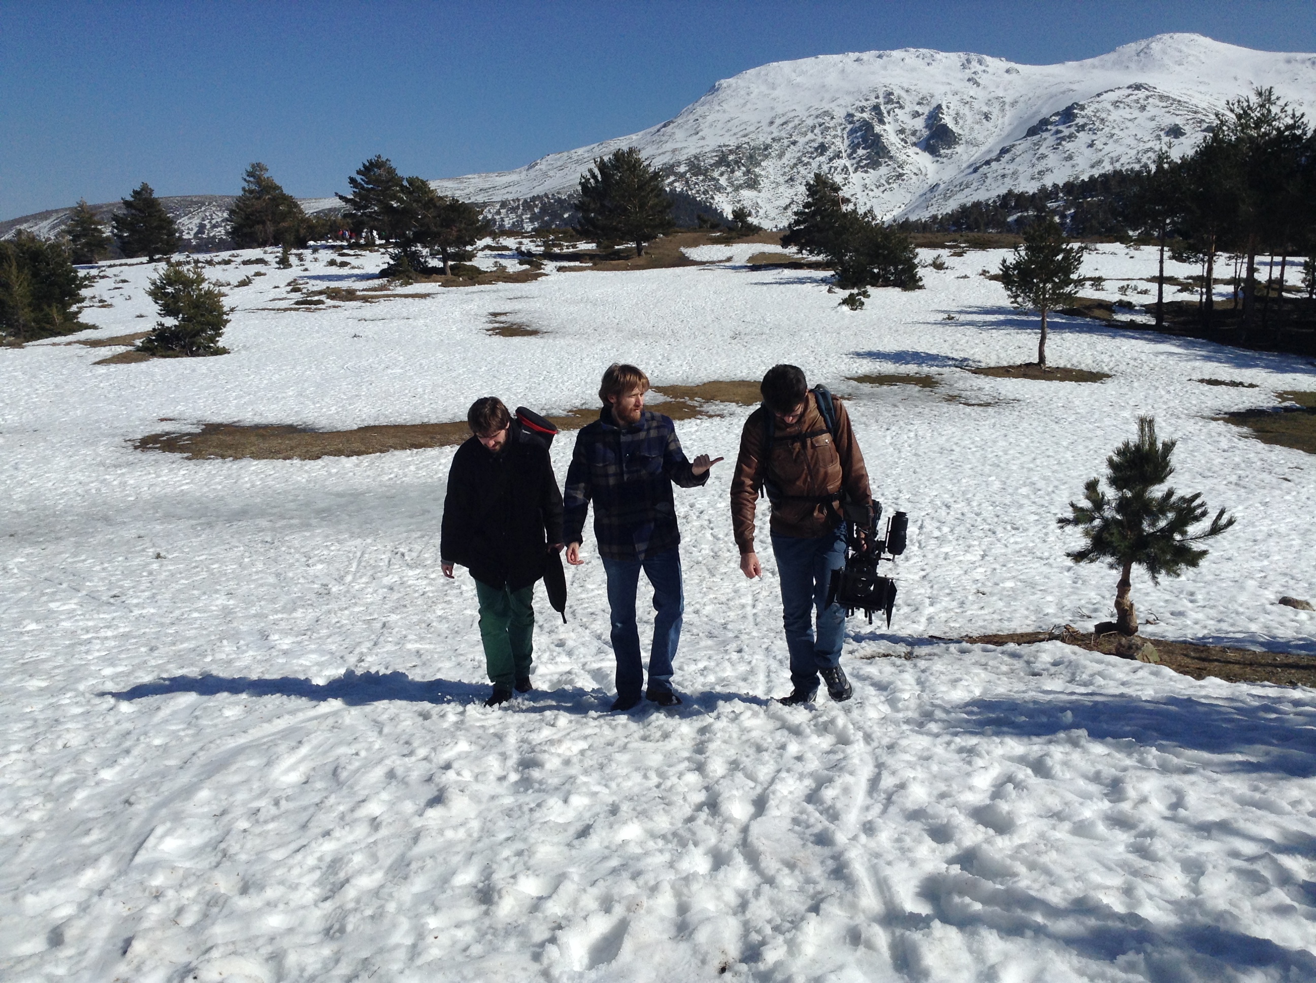
M 811 703 L 820 676 L 833 700 L 848 700 L 853 690 L 840 665 L 845 612 L 828 604 L 828 588 L 832 571 L 844 563 L 845 520 L 858 528 L 871 520 L 863 455 L 845 405 L 821 387 L 811 391 L 796 366 L 774 366 L 759 388 L 763 404 L 745 421 L 732 478 L 741 571 L 762 575 L 754 516 L 766 493 L 791 657 L 792 690 L 780 703 Z M 688 461 L 671 418 L 645 409 L 647 391 L 649 378 L 636 366 L 613 365 L 604 372 L 603 408 L 576 436 L 565 496 L 545 442 L 497 397 L 471 405 L 471 437 L 449 472 L 440 555 L 445 576 L 461 565 L 475 580 L 494 686 L 487 707 L 530 691 L 534 584 L 551 566 L 561 568 L 555 554 L 563 547 L 567 563 L 584 562 L 580 543 L 591 501 L 617 662 L 612 709 L 633 709 L 641 693 L 661 707 L 680 704 L 672 662 L 684 592 L 672 484 L 704 486 L 722 458 Z M 653 586 L 655 611 L 647 687 L 636 622 L 641 571 Z

